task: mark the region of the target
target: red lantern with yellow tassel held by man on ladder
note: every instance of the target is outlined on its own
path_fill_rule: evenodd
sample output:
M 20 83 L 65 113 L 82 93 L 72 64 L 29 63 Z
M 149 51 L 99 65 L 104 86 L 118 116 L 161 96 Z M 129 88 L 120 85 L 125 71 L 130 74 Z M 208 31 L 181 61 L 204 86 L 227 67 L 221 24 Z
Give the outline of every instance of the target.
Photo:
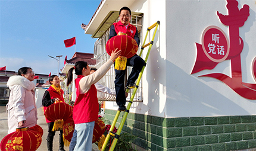
M 138 51 L 138 44 L 135 39 L 124 33 L 118 33 L 117 36 L 110 38 L 106 44 L 106 50 L 109 55 L 117 49 L 122 50 L 121 56 L 115 60 L 115 69 L 125 70 L 126 61 L 134 56 Z

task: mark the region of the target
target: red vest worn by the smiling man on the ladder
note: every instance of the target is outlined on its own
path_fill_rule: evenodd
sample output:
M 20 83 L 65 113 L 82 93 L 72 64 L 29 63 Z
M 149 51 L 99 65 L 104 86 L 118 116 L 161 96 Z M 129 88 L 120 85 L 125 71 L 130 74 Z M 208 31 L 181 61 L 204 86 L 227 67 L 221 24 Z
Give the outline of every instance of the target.
M 114 23 L 113 25 L 115 27 L 115 33 L 118 34 L 118 32 L 121 31 L 123 33 L 126 33 L 127 36 L 134 38 L 136 30 L 137 30 L 134 25 L 131 25 L 129 23 L 127 29 L 126 29 L 125 25 L 121 23 L 121 21 L 118 21 L 117 23 Z

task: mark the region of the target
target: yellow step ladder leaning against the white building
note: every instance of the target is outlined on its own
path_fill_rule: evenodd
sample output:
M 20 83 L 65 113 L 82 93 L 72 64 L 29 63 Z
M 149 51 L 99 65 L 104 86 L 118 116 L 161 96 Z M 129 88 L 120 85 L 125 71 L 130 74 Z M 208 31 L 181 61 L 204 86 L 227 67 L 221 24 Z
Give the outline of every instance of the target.
M 140 52 L 140 54 L 139 54 L 139 56 L 141 56 L 143 49 L 144 49 L 145 47 L 148 47 L 148 46 L 149 46 L 149 48 L 148 48 L 148 53 L 146 54 L 146 57 L 145 57 L 145 65 L 146 65 L 146 62 L 147 62 L 147 60 L 148 60 L 148 56 L 149 56 L 149 52 L 150 52 L 150 50 L 151 50 L 151 47 L 152 47 L 152 45 L 153 45 L 153 43 L 154 43 L 155 33 L 157 33 L 157 28 L 158 28 L 158 25 L 159 25 L 159 24 L 160 24 L 160 21 L 157 21 L 157 23 L 155 23 L 155 24 L 151 25 L 150 27 L 148 27 L 148 30 L 146 31 L 146 36 L 145 36 L 145 39 L 144 39 L 143 44 L 142 44 L 142 47 L 141 47 L 141 52 Z M 155 27 L 155 31 L 154 31 L 152 40 L 151 40 L 149 43 L 145 44 L 146 38 L 148 37 L 149 31 L 150 31 L 152 28 L 154 28 L 154 27 Z M 121 113 L 121 111 L 120 111 L 119 109 L 117 110 L 117 114 L 115 115 L 114 121 L 113 121 L 113 123 L 111 124 L 110 130 L 108 131 L 107 137 L 106 137 L 106 139 L 105 139 L 105 141 L 104 141 L 104 144 L 103 144 L 103 146 L 102 146 L 102 148 L 101 148 L 102 151 L 104 151 L 104 150 L 106 149 L 107 144 L 108 144 L 108 142 L 109 142 L 111 136 L 114 137 L 114 140 L 113 140 L 113 143 L 112 143 L 111 146 L 110 146 L 110 151 L 113 151 L 113 150 L 114 150 L 115 145 L 117 144 L 117 140 L 118 140 L 119 137 L 120 137 L 121 130 L 123 129 L 124 122 L 126 121 L 127 115 L 128 115 L 128 113 L 129 113 L 130 106 L 132 105 L 133 98 L 135 97 L 136 91 L 137 91 L 137 89 L 139 88 L 139 82 L 141 81 L 141 77 L 142 77 L 142 73 L 143 73 L 143 71 L 144 71 L 144 69 L 145 69 L 145 65 L 143 66 L 141 72 L 139 73 L 139 77 L 138 77 L 138 79 L 137 79 L 135 89 L 133 90 L 133 93 L 132 93 L 132 96 L 131 96 L 131 98 L 130 98 L 129 104 L 127 105 L 127 108 L 126 108 L 126 110 L 124 111 L 124 115 L 123 115 L 123 118 L 122 118 L 122 120 L 121 120 L 121 123 L 120 123 L 120 125 L 119 125 L 119 127 L 118 127 L 117 133 L 113 133 L 113 130 L 114 130 L 115 124 L 117 123 L 117 119 L 118 119 L 118 117 L 119 117 L 119 115 L 120 115 L 120 113 Z M 129 90 L 130 90 L 130 88 L 127 87 L 126 92 L 129 92 Z

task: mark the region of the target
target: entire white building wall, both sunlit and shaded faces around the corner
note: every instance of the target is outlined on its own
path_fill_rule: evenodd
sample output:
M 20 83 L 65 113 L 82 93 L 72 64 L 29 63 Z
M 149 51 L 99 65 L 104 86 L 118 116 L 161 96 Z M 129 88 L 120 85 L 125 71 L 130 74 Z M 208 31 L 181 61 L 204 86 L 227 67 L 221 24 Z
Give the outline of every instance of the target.
M 244 4 L 250 8 L 248 20 L 239 28 L 244 43 L 241 53 L 242 80 L 255 83 L 251 63 L 256 56 L 256 5 L 250 0 L 238 2 L 239 9 Z M 134 2 L 130 7 L 132 11 L 144 14 L 143 38 L 150 25 L 158 20 L 161 23 L 143 73 L 143 102 L 133 102 L 131 113 L 168 118 L 256 114 L 256 100 L 241 97 L 217 79 L 198 77 L 207 73 L 231 76 L 230 60 L 219 63 L 213 70 L 202 70 L 191 75 L 196 60 L 195 43 L 201 44 L 204 29 L 216 25 L 229 37 L 228 27 L 217 16 L 217 11 L 227 15 L 226 4 L 226 0 Z M 143 53 L 143 57 L 145 55 Z M 115 102 L 106 102 L 106 108 L 114 109 L 113 106 L 117 109 Z

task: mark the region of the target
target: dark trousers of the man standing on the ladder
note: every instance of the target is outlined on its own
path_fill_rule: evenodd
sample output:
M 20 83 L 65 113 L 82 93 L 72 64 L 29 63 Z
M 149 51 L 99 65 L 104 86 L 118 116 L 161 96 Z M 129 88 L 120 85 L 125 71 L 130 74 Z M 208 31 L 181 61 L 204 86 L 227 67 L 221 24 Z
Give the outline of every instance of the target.
M 137 54 L 127 59 L 126 69 L 127 69 L 127 66 L 133 67 L 132 72 L 128 77 L 127 84 L 135 83 L 144 65 L 145 65 L 145 61 Z M 126 95 L 124 91 L 125 75 L 126 75 L 126 70 L 115 70 L 115 93 L 116 93 L 117 105 L 126 104 Z

